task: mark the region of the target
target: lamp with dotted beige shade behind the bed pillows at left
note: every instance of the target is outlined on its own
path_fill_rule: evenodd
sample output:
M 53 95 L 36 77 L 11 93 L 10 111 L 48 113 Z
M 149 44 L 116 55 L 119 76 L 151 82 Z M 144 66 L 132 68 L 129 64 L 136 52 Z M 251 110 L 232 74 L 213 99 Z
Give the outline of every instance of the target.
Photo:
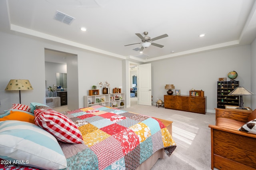
M 11 79 L 5 90 L 18 90 L 20 92 L 21 90 L 33 90 L 33 87 L 28 80 Z

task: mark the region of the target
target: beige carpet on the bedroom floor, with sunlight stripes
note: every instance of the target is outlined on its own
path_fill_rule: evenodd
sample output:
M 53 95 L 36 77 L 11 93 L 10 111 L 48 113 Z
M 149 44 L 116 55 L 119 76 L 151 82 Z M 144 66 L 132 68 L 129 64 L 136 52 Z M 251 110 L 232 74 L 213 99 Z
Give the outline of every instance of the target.
M 131 98 L 131 107 L 123 110 L 173 121 L 172 137 L 176 149 L 170 157 L 159 159 L 152 170 L 210 170 L 211 141 L 209 124 L 215 125 L 215 113 L 190 113 L 156 106 L 137 105 Z

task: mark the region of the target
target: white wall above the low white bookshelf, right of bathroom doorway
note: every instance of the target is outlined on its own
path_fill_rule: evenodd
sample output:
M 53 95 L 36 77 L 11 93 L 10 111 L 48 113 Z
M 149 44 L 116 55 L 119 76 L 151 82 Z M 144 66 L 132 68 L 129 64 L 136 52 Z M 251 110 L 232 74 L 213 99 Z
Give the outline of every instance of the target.
M 88 95 L 88 90 L 96 85 L 102 94 L 103 87 L 99 83 L 104 84 L 106 81 L 111 89 L 122 86 L 122 61 L 97 53 L 78 53 L 79 101 L 83 101 L 79 103 L 79 108 L 84 107 L 84 95 Z

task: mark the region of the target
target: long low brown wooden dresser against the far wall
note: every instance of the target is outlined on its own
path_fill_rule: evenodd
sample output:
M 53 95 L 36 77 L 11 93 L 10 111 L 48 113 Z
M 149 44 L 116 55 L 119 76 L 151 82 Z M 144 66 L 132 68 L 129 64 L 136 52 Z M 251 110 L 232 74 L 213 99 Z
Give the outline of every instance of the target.
M 164 107 L 180 111 L 206 113 L 206 97 L 164 95 Z

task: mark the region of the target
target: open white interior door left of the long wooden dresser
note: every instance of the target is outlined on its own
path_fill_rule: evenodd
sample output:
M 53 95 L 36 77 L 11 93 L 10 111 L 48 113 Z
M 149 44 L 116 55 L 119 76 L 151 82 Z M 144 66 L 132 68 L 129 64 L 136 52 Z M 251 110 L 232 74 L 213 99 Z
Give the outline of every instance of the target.
M 138 65 L 137 95 L 139 105 L 152 105 L 151 63 Z

